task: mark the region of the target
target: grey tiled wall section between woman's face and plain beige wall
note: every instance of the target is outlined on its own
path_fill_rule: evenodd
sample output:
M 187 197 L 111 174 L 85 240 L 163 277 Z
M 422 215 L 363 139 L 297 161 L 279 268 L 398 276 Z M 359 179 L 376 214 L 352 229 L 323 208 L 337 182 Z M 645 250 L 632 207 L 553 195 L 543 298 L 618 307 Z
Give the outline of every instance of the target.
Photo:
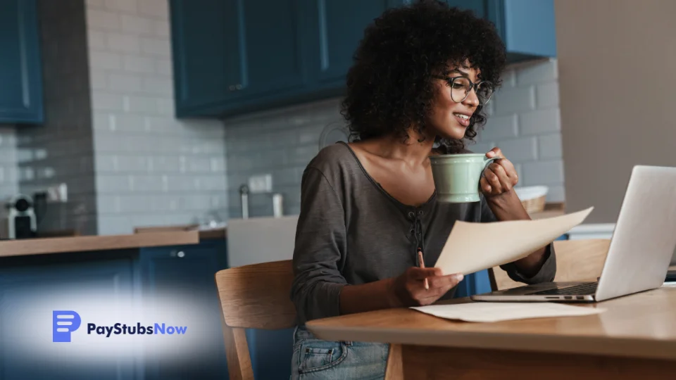
M 520 186 L 548 186 L 547 201 L 564 201 L 556 60 L 509 68 L 489 104 L 491 117 L 470 149 L 499 146 L 515 164 Z

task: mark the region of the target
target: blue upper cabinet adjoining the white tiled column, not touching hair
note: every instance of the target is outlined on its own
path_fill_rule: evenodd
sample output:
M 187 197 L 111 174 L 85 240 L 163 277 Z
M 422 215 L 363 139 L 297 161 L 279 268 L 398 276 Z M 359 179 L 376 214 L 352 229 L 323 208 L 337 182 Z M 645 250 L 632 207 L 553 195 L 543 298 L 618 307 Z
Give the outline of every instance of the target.
M 300 0 L 170 6 L 178 117 L 256 108 L 306 85 Z

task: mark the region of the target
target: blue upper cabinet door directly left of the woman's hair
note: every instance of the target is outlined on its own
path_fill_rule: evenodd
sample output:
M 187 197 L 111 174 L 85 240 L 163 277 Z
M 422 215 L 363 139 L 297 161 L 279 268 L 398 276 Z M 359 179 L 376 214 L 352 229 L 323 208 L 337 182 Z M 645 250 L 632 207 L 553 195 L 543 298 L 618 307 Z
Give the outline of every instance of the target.
M 373 23 L 392 0 L 309 0 L 308 33 L 313 74 L 323 84 L 343 82 L 365 28 Z

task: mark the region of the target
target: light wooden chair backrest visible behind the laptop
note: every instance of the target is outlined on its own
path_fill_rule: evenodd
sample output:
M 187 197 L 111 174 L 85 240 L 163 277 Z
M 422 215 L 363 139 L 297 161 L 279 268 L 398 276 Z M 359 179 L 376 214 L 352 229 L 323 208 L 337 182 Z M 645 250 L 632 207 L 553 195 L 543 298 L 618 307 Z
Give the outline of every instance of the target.
M 603 264 L 611 241 L 609 239 L 581 239 L 554 241 L 556 252 L 556 277 L 554 281 L 596 281 L 601 276 Z M 513 281 L 507 272 L 494 267 L 489 270 L 493 290 L 523 286 Z

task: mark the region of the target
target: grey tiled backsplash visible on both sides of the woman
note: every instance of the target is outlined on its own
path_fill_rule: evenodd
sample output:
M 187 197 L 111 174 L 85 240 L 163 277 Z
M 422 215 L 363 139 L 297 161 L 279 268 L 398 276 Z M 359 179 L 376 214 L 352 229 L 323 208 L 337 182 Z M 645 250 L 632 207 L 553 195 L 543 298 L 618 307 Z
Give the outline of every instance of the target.
M 563 201 L 561 121 L 556 60 L 508 68 L 492 99 L 492 117 L 473 151 L 500 146 L 515 163 L 520 185 L 546 184 L 548 201 Z M 230 217 L 241 217 L 239 186 L 251 175 L 273 175 L 273 191 L 284 194 L 284 213 L 300 210 L 303 169 L 319 151 L 325 126 L 342 122 L 341 99 L 225 120 L 227 194 Z M 272 214 L 269 195 L 249 196 L 250 216 Z

